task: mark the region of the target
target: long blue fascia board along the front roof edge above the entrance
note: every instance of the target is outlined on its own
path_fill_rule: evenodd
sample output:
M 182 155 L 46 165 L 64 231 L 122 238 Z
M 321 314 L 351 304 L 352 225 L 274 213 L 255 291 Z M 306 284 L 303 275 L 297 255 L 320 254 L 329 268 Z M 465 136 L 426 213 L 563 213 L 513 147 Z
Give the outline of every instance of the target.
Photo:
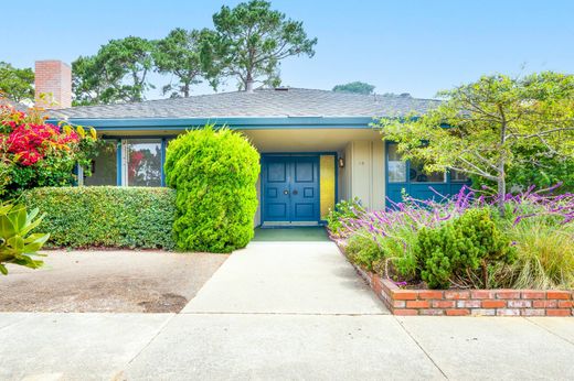
M 56 123 L 51 119 L 49 122 Z M 70 118 L 71 124 L 91 126 L 98 131 L 183 131 L 205 124 L 227 126 L 237 130 L 269 129 L 371 129 L 371 117 L 252 117 L 252 118 L 132 118 L 84 119 Z

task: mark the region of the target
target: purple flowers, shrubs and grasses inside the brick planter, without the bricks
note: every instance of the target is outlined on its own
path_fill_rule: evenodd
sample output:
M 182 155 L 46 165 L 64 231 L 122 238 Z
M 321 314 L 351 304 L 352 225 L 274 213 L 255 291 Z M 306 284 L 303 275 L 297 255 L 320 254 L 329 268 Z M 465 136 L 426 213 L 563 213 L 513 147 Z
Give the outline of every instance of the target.
M 387 210 L 341 216 L 339 224 L 331 222 L 329 227 L 337 226 L 337 233 L 331 231 L 331 237 L 346 247 L 353 262 L 395 281 L 417 284 L 422 272 L 429 272 L 425 262 L 431 261 L 432 273 L 425 279 L 443 283 L 442 286 L 487 283 L 488 287 L 568 289 L 574 277 L 574 194 L 555 195 L 553 190 L 534 192 L 530 187 L 506 195 L 503 217 L 492 214 L 498 197 L 467 187 L 451 198 L 439 194 L 428 200 L 405 196 L 403 203 L 393 204 Z M 466 237 L 468 232 L 474 232 L 471 238 Z M 493 255 L 492 262 L 488 250 L 497 247 L 508 250 L 503 255 L 498 252 L 501 261 Z M 443 251 L 436 254 L 437 250 Z M 468 260 L 468 252 L 474 253 L 474 260 Z M 489 253 L 490 260 L 481 261 L 478 257 L 477 268 L 475 253 Z M 464 261 L 461 255 L 467 255 Z M 454 268 L 451 257 L 458 261 Z M 515 261 L 507 263 L 513 257 Z

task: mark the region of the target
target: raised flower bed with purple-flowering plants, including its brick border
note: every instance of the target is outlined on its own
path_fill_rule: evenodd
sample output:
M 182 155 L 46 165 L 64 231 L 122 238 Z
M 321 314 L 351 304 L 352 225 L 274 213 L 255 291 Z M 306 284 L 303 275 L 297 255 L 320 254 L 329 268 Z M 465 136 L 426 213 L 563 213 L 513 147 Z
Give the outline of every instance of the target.
M 331 238 L 396 315 L 573 316 L 574 196 L 405 198 L 393 210 L 347 202 Z

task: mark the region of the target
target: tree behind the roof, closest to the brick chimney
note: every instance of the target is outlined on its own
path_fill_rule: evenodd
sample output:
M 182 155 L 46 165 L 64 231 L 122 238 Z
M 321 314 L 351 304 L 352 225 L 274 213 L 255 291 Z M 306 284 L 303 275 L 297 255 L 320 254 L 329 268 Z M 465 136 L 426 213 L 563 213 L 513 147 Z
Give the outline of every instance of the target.
M 148 80 L 156 43 L 129 36 L 110 40 L 96 55 L 72 63 L 74 105 L 136 102 L 155 88 Z

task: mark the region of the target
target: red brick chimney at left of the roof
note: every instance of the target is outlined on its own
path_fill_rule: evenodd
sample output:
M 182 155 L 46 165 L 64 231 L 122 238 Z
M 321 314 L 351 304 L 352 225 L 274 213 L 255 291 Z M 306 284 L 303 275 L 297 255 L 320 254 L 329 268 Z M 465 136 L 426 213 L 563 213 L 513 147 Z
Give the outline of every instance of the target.
M 45 99 L 39 96 L 45 94 Z M 35 62 L 35 104 L 51 109 L 72 107 L 72 68 L 62 61 Z

